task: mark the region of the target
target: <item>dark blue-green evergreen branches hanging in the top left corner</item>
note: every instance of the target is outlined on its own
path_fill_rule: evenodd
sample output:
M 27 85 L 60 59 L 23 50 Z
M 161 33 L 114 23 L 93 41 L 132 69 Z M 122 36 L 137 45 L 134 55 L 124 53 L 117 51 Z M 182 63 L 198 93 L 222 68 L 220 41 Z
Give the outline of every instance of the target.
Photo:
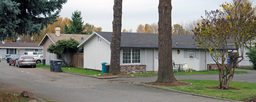
M 67 0 L 0 0 L 0 40 L 18 35 L 40 35 L 47 24 L 56 22 Z

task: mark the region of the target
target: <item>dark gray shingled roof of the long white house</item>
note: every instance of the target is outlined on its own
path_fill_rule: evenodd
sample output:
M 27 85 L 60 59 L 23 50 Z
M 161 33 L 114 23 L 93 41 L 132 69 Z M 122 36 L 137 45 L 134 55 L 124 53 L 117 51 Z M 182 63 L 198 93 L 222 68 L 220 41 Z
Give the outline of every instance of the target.
M 96 33 L 111 42 L 112 32 L 96 31 Z M 197 49 L 198 42 L 192 37 L 193 35 L 172 35 L 172 48 Z M 158 48 L 158 34 L 121 33 L 121 48 Z M 232 46 L 229 48 L 234 49 Z

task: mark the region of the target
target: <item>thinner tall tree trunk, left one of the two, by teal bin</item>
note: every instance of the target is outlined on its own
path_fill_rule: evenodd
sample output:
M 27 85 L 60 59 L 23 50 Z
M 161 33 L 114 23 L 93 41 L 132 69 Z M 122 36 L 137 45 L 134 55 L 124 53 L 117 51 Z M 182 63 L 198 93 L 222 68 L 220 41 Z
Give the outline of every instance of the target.
M 120 75 L 120 43 L 122 27 L 122 0 L 114 0 L 113 34 L 110 44 L 111 58 L 108 75 Z

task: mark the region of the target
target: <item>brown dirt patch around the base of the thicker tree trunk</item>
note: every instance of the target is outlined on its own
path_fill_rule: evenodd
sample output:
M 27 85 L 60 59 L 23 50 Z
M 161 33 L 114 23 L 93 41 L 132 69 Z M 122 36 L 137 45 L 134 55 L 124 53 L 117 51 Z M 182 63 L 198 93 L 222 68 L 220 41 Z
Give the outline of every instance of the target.
M 190 83 L 176 81 L 176 82 L 142 82 L 142 84 L 148 84 L 152 86 L 185 86 L 185 85 L 189 85 Z

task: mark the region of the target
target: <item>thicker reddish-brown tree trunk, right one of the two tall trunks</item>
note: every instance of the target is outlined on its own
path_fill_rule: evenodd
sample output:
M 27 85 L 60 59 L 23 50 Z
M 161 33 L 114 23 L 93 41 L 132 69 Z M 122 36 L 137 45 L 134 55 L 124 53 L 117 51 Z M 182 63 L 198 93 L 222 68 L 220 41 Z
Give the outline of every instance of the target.
M 175 82 L 172 67 L 172 0 L 159 0 L 159 66 L 156 82 Z

